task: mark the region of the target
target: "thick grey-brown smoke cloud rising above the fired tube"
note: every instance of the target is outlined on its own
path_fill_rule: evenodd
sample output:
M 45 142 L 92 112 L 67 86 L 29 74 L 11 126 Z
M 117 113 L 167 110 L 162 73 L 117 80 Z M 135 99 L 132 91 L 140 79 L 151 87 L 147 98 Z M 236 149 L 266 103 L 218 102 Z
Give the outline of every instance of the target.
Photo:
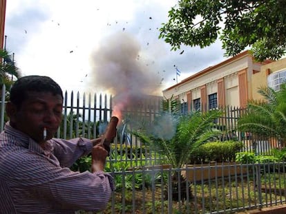
M 144 56 L 140 43 L 126 32 L 105 38 L 93 52 L 91 65 L 91 83 L 113 94 L 113 110 L 121 111 L 146 94 L 162 94 L 155 60 Z

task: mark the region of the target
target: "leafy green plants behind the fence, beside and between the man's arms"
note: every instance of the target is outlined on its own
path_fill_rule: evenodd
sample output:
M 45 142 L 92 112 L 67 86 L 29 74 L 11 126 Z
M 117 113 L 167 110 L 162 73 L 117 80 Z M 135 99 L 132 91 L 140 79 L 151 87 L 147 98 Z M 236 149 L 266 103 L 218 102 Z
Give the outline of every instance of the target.
M 127 150 L 127 152 L 126 152 Z M 144 151 L 144 149 L 143 149 Z M 131 154 L 132 153 L 132 154 Z M 134 167 L 133 160 L 135 156 L 140 159 L 140 166 Z M 72 167 L 73 171 L 90 171 L 92 158 L 91 155 L 79 158 Z M 150 160 L 148 160 L 148 163 Z M 149 163 L 150 164 L 150 163 Z M 151 162 L 151 164 L 153 164 Z M 142 189 L 144 185 L 145 188 L 149 188 L 154 183 L 155 185 L 160 185 L 161 178 L 166 182 L 166 175 L 164 173 L 142 173 L 142 167 L 147 165 L 147 160 L 142 153 L 137 153 L 136 149 L 131 149 L 131 147 L 115 147 L 111 145 L 111 156 L 106 160 L 106 165 L 104 171 L 113 174 L 115 180 L 116 191 L 132 190 L 132 189 Z

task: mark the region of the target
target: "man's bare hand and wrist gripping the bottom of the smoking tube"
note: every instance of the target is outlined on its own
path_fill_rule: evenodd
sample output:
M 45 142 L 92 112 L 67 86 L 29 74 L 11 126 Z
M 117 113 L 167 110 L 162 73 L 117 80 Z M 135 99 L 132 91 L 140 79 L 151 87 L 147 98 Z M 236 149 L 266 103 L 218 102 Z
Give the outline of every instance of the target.
M 91 165 L 91 171 L 104 171 L 104 165 L 106 162 L 106 157 L 108 155 L 108 151 L 104 149 L 102 145 L 95 145 L 93 150 L 91 151 L 93 162 Z

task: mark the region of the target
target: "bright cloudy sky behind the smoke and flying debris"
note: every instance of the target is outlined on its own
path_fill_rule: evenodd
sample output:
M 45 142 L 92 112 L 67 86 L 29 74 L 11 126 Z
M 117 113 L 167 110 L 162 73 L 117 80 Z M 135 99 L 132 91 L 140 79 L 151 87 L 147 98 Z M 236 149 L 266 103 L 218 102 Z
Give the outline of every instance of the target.
M 177 80 L 226 59 L 220 41 L 174 52 L 158 39 L 176 3 L 8 0 L 6 50 L 15 53 L 23 76 L 50 76 L 64 91 L 162 95 Z

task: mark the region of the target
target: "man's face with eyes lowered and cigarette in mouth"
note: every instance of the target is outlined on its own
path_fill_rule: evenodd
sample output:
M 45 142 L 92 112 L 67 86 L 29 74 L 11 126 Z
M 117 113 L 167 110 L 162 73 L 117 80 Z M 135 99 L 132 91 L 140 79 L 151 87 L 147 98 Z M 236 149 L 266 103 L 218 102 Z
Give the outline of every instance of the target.
M 19 131 L 26 133 L 36 142 L 44 142 L 44 127 L 46 140 L 53 138 L 61 123 L 63 99 L 60 95 L 50 92 L 28 92 L 28 98 L 23 101 L 20 109 L 10 116 L 10 124 Z

